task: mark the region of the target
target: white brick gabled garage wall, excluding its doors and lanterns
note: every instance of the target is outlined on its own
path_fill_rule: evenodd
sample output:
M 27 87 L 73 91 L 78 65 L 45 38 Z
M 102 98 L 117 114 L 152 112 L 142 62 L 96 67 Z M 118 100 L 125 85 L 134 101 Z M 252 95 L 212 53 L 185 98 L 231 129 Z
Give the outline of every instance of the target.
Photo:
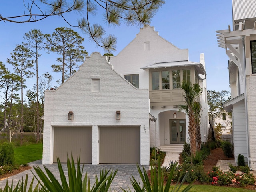
M 135 88 L 112 69 L 106 56 L 92 53 L 59 88 L 45 92 L 43 164 L 53 162 L 54 127 L 92 127 L 92 164 L 98 164 L 99 127 L 136 126 L 140 127 L 140 164 L 148 165 L 148 108 L 148 90 Z M 73 120 L 68 120 L 70 111 Z

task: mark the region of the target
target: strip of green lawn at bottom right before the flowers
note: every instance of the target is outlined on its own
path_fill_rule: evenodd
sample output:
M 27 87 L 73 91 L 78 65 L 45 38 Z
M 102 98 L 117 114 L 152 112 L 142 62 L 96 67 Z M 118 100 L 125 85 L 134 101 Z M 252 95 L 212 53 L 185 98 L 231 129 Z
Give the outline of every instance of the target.
M 182 189 L 185 188 L 185 186 L 181 187 Z M 170 191 L 172 188 L 170 189 Z M 189 192 L 252 192 L 255 190 L 248 190 L 243 188 L 233 188 L 233 187 L 223 187 L 223 186 L 212 186 L 212 185 L 193 185 L 193 187 L 190 189 Z

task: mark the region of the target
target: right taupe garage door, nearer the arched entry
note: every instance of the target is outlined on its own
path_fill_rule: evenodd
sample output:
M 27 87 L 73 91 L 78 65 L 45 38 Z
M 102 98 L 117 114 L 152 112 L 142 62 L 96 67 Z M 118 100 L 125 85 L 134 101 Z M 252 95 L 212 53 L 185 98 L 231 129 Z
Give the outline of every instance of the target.
M 140 127 L 100 127 L 100 163 L 140 163 Z

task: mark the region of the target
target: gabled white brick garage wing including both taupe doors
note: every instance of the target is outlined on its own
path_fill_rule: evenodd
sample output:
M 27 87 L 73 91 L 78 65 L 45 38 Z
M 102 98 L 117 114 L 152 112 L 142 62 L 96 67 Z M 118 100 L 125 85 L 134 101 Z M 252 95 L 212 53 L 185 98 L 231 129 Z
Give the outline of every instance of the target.
M 72 151 L 83 163 L 148 165 L 149 136 L 148 90 L 132 86 L 98 52 L 59 88 L 45 92 L 43 164 L 56 156 L 66 162 Z

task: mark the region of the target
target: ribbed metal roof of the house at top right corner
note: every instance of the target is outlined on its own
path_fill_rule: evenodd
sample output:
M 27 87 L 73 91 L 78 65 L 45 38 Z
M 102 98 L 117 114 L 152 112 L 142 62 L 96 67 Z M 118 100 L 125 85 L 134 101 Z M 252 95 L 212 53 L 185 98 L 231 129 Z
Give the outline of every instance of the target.
M 256 0 L 232 0 L 233 19 L 256 18 Z

